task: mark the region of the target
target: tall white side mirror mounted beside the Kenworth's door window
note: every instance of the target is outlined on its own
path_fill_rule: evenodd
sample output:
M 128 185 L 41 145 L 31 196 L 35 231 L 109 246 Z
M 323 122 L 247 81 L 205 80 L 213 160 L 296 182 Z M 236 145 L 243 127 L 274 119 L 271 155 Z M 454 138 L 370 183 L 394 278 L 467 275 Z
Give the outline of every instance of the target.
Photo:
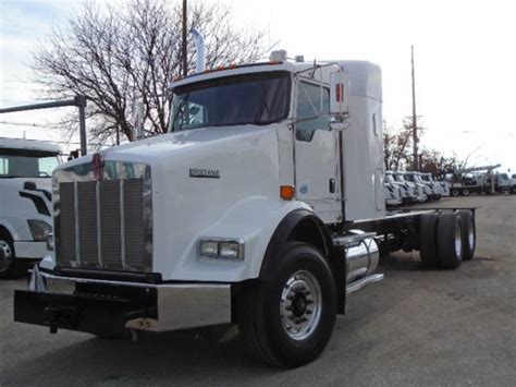
M 349 75 L 343 66 L 330 73 L 330 126 L 345 130 L 349 126 Z

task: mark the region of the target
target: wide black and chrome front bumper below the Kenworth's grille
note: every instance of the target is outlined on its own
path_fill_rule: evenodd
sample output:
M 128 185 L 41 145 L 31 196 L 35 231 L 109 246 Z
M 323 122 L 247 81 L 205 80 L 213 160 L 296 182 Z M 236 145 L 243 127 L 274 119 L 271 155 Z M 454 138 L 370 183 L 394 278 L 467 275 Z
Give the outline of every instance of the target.
M 49 326 L 51 331 L 64 328 L 100 335 L 103 327 L 96 327 L 91 321 L 108 321 L 111 314 L 118 323 L 109 327 L 109 332 L 125 328 L 165 331 L 231 323 L 228 283 L 153 285 L 60 277 L 33 270 L 32 277 L 35 276 L 40 278 L 32 278 L 29 283 L 42 281 L 45 287 L 15 292 L 14 319 Z M 95 292 L 84 291 L 85 287 L 95 288 Z M 67 318 L 71 311 L 73 316 Z

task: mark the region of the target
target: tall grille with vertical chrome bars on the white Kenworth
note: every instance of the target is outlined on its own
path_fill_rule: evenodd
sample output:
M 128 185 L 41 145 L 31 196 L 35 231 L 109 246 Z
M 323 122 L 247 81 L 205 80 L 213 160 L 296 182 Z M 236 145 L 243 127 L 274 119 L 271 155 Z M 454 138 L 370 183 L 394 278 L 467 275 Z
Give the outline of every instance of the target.
M 151 242 L 145 244 L 151 219 L 144 216 L 151 191 L 145 190 L 144 179 L 60 182 L 58 186 L 58 266 L 151 271 Z

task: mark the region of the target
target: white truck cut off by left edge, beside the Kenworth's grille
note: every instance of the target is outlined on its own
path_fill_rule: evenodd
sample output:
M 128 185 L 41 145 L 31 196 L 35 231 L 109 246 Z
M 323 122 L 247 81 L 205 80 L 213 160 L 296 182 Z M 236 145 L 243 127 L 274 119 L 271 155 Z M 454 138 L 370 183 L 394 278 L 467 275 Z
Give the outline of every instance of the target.
M 52 230 L 51 176 L 61 148 L 0 138 L 0 278 L 15 278 L 48 254 Z

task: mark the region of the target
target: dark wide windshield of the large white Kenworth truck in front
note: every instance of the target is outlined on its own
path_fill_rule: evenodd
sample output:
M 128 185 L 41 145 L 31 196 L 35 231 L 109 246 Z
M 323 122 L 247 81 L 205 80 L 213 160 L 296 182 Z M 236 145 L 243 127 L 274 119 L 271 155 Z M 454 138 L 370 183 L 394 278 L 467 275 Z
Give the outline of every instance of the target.
M 180 86 L 173 90 L 171 131 L 283 120 L 290 83 L 286 72 L 267 72 Z

